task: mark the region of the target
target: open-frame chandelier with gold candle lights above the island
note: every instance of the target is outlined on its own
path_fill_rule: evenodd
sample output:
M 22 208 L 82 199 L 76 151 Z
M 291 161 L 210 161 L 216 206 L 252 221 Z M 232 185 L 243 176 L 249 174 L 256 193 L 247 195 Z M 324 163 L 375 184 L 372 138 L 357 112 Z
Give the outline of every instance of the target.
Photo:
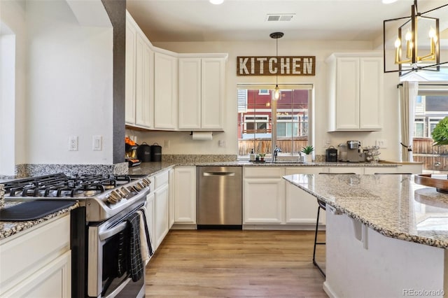
M 384 72 L 399 72 L 403 76 L 410 71 L 421 69 L 440 71 L 440 65 L 448 62 L 440 62 L 440 27 L 437 17 L 430 17 L 436 10 L 444 8 L 448 4 L 431 9 L 425 13 L 419 13 L 417 0 L 411 7 L 409 17 L 398 17 L 383 22 L 383 52 Z M 395 27 L 394 27 L 395 26 Z M 398 26 L 398 37 L 395 39 L 394 64 L 398 69 L 387 70 L 386 65 L 386 30 L 395 29 Z M 404 40 L 403 40 L 404 37 Z

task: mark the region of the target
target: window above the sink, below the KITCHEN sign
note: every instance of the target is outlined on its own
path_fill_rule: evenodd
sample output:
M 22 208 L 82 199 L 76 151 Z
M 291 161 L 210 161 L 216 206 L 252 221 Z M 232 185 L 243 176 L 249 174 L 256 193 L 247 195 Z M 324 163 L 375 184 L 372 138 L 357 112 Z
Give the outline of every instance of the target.
M 239 158 L 248 158 L 252 149 L 270 157 L 274 144 L 281 148 L 280 155 L 297 155 L 309 141 L 312 86 L 283 86 L 278 101 L 274 90 L 262 87 L 238 86 Z

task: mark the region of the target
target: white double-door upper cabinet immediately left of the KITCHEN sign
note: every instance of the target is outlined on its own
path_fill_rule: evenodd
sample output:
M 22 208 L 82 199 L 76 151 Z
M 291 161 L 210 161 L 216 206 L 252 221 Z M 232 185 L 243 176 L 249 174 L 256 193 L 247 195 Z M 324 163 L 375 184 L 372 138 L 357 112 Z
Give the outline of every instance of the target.
M 223 130 L 226 57 L 179 58 L 179 129 Z

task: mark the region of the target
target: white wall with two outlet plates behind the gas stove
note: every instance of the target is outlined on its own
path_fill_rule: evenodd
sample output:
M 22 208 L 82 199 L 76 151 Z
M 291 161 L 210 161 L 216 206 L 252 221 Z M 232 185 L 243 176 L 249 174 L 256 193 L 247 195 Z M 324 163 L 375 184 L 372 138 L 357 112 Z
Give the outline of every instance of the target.
M 80 26 L 63 0 L 27 1 L 26 24 L 26 162 L 112 164 L 112 26 Z M 93 135 L 103 136 L 102 151 L 92 150 Z

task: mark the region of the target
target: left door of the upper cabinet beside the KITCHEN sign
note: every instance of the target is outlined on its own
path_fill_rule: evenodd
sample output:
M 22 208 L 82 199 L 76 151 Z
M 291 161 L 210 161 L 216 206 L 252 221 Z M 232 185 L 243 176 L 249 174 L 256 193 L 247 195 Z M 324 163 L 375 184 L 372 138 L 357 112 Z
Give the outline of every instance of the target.
M 179 59 L 179 129 L 201 128 L 201 59 Z

